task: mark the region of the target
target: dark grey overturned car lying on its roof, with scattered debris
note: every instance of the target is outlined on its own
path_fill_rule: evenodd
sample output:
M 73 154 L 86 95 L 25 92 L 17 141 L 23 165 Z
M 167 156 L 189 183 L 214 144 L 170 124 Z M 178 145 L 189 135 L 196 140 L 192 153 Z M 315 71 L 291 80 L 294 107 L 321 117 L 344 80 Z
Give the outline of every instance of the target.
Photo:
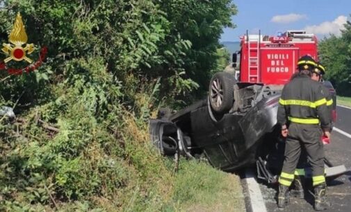
M 216 73 L 207 98 L 176 113 L 161 109 L 150 120 L 152 142 L 163 155 L 204 154 L 212 166 L 227 172 L 256 166 L 257 177 L 275 183 L 284 161 L 277 127 L 280 94 L 281 87 L 236 82 L 229 73 Z M 325 162 L 329 178 L 347 171 Z M 305 170 L 309 177 L 308 165 Z

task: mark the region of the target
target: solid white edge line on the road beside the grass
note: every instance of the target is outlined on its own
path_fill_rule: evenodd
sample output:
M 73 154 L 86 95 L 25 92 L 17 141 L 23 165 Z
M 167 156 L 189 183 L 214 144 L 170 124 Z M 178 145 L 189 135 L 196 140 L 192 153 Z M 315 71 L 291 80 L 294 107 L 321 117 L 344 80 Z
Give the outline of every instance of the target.
M 247 184 L 247 190 L 250 195 L 250 204 L 253 212 L 267 212 L 266 204 L 263 201 L 261 189 L 259 184 L 254 178 L 254 173 L 251 169 L 245 171 L 245 179 Z

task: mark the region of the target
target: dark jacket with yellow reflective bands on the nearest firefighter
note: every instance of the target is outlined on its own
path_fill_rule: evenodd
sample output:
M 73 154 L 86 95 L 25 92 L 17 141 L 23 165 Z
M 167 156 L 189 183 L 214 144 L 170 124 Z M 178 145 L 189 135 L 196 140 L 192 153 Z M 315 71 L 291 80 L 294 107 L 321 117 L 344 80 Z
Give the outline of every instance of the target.
M 332 120 L 323 87 L 324 85 L 311 80 L 309 76 L 299 75 L 293 78 L 281 93 L 278 123 L 320 124 L 324 130 L 330 131 Z

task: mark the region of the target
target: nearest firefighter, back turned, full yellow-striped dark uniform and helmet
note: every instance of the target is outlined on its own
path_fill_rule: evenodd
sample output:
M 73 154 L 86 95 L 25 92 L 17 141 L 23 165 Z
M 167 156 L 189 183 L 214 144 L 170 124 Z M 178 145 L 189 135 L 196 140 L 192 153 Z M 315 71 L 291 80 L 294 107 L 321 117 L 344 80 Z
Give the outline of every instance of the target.
M 326 209 L 324 149 L 320 136 L 330 138 L 330 115 L 323 85 L 311 79 L 316 62 L 308 55 L 297 62 L 299 74 L 284 86 L 279 99 L 277 121 L 286 139 L 284 165 L 279 177 L 278 206 L 288 204 L 288 188 L 294 179 L 302 146 L 312 167 L 315 193 L 314 209 Z M 319 125 L 320 124 L 320 125 Z

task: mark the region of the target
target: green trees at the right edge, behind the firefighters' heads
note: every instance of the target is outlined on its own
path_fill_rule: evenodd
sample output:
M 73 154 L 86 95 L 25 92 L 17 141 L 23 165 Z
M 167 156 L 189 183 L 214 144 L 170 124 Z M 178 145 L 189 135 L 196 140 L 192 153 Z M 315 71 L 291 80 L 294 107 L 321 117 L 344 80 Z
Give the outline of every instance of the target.
M 338 94 L 351 96 L 351 22 L 345 24 L 341 37 L 332 35 L 319 44 L 320 60 L 326 68 L 326 78 Z

